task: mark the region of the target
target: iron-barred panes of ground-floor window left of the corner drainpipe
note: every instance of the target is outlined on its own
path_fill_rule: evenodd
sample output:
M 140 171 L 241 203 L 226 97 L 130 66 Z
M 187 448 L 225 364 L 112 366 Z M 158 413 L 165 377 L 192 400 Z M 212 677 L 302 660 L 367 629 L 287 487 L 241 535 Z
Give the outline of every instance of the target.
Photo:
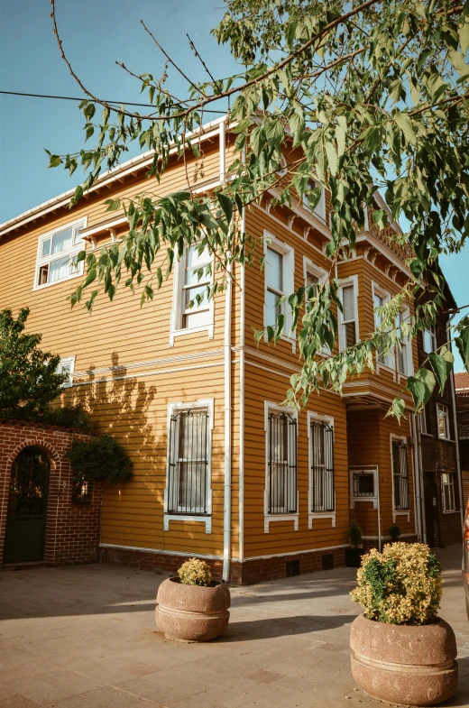
M 207 514 L 207 409 L 179 410 L 170 417 L 167 507 L 171 514 Z

